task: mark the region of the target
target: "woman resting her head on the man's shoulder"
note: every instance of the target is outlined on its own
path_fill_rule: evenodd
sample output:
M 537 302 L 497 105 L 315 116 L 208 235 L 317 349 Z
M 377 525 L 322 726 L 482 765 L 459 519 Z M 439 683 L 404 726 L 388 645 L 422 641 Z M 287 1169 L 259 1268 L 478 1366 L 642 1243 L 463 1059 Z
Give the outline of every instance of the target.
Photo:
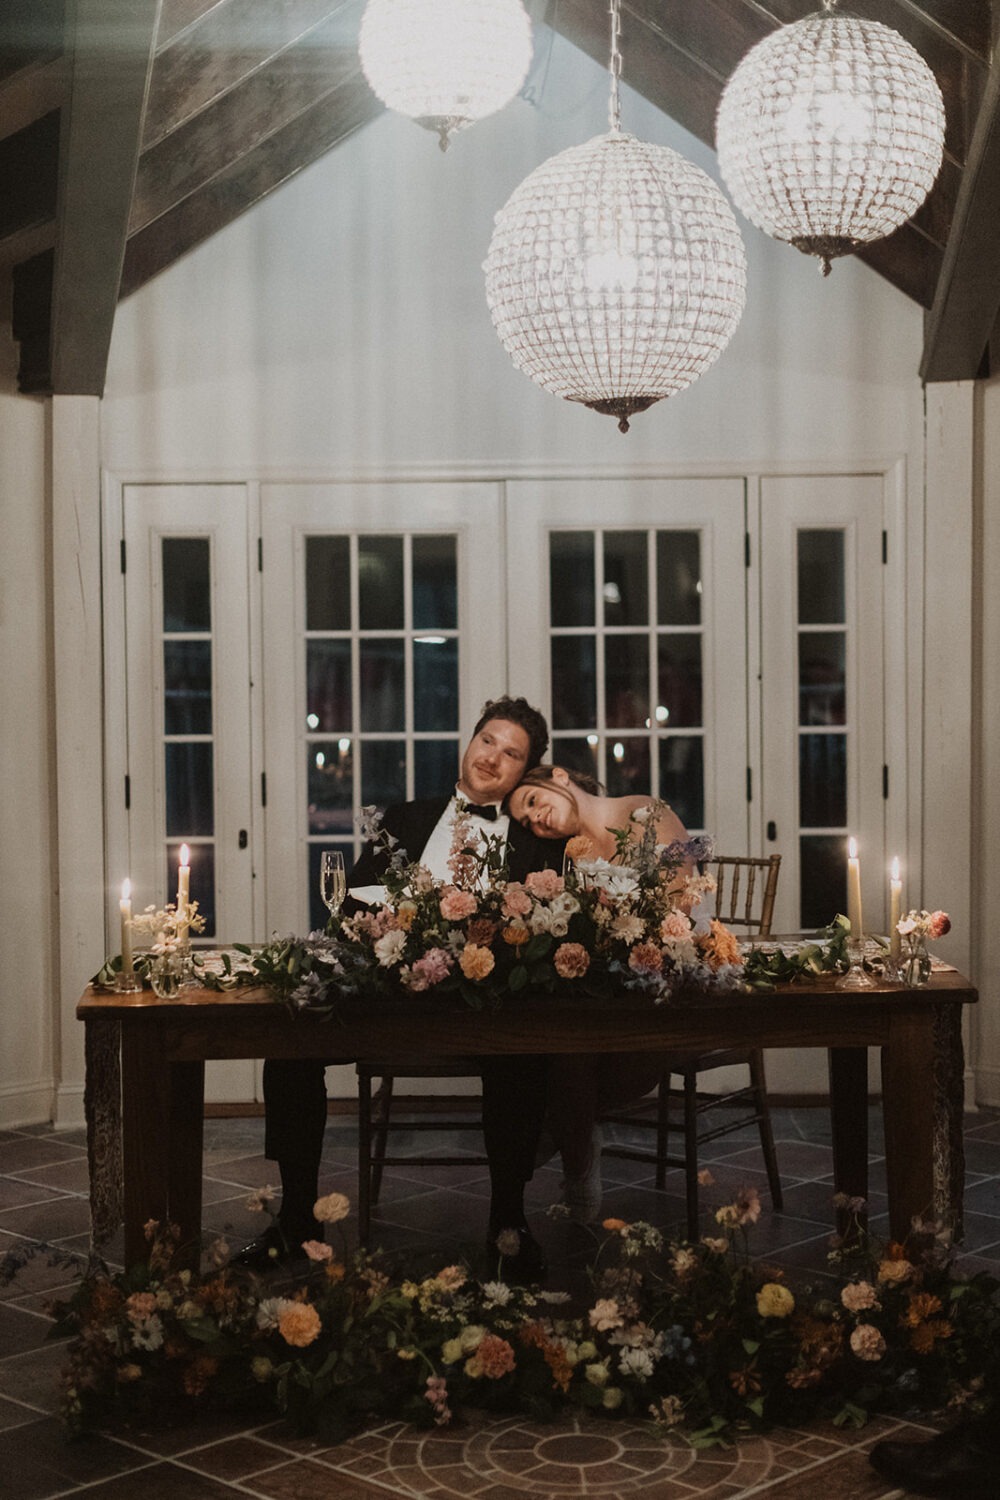
M 538 838 L 586 840 L 577 858 L 613 860 L 621 852 L 615 830 L 642 837 L 634 814 L 657 807 L 657 843 L 687 842 L 676 813 L 652 796 L 607 796 L 585 772 L 540 765 L 508 795 L 505 810 Z M 580 846 L 577 846 L 580 848 Z M 573 846 L 570 846 L 573 852 Z M 687 862 L 685 873 L 693 868 Z M 639 1100 L 655 1088 L 661 1060 L 649 1053 L 574 1053 L 552 1059 L 549 1130 L 562 1156 L 564 1202 L 570 1218 L 589 1224 L 601 1214 L 601 1126 L 609 1110 Z

